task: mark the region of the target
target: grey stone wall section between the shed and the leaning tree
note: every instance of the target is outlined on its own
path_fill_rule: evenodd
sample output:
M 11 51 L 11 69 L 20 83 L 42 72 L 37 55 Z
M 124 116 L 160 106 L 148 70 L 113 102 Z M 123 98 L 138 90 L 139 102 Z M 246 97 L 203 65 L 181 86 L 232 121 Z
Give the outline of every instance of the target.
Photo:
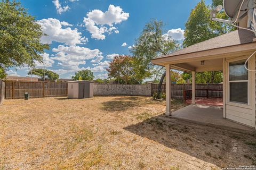
M 125 85 L 125 84 L 94 84 L 94 96 L 104 95 L 130 95 L 151 96 L 151 84 Z

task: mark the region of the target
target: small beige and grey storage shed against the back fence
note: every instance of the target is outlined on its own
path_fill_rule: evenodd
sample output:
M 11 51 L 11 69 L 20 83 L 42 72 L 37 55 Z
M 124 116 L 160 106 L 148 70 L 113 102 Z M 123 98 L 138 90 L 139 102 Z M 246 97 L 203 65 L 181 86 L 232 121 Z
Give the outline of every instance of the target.
M 93 97 L 93 82 L 76 80 L 68 82 L 68 98 L 82 99 Z

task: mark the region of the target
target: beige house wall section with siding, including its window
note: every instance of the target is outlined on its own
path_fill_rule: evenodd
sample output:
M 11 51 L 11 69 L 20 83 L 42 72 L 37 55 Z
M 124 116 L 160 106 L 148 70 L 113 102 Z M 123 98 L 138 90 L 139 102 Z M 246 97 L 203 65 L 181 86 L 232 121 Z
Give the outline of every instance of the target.
M 226 60 L 226 118 L 255 127 L 255 73 L 246 57 Z M 246 64 L 255 69 L 255 58 Z

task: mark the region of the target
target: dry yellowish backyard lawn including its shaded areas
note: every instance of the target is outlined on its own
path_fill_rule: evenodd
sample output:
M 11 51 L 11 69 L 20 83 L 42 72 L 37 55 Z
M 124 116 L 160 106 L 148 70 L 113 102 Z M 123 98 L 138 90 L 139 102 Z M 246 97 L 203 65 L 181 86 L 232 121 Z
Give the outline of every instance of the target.
M 184 105 L 173 101 L 173 109 Z M 5 100 L 0 169 L 220 169 L 256 164 L 256 135 L 163 115 L 149 97 Z

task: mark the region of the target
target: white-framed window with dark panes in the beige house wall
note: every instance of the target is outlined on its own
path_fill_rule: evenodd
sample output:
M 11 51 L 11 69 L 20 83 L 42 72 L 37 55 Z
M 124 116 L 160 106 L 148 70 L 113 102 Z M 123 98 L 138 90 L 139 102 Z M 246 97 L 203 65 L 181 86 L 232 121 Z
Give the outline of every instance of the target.
M 244 63 L 245 60 L 229 63 L 230 102 L 248 104 L 248 71 Z

